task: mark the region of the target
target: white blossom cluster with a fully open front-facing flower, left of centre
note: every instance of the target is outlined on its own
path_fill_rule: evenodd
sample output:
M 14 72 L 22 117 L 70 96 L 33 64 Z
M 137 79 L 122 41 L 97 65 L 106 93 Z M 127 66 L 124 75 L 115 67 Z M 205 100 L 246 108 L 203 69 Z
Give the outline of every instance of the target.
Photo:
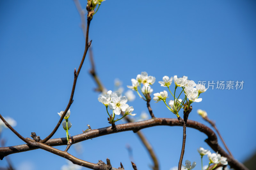
M 109 90 L 104 96 L 100 96 L 98 98 L 99 102 L 105 105 L 108 113 L 108 107 L 110 110 L 113 110 L 113 115 L 109 115 L 108 113 L 108 121 L 109 123 L 114 123 L 116 121 L 121 120 L 126 115 L 136 115 L 132 114 L 132 111 L 134 110 L 133 107 L 129 106 L 127 103 L 127 98 L 125 96 L 121 97 L 121 94 L 119 92 L 113 93 L 111 90 Z M 124 116 L 120 119 L 115 120 L 115 115 L 120 115 L 121 110 L 125 112 Z

